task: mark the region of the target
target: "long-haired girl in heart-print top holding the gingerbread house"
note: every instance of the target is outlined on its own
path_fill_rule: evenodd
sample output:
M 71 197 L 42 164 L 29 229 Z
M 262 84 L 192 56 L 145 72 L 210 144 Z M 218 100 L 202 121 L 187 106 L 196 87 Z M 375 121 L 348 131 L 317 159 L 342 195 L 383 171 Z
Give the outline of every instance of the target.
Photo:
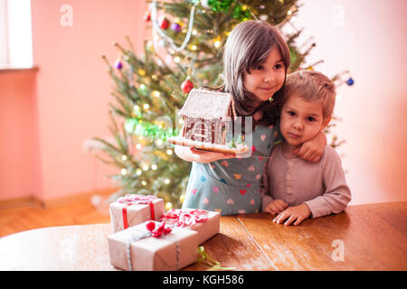
M 183 208 L 221 215 L 260 211 L 260 179 L 279 134 L 278 107 L 288 68 L 288 45 L 270 23 L 247 21 L 233 29 L 223 51 L 224 85 L 219 90 L 232 94 L 238 117 L 253 117 L 251 157 L 175 145 L 175 154 L 193 162 Z M 325 144 L 319 133 L 296 153 L 316 162 Z

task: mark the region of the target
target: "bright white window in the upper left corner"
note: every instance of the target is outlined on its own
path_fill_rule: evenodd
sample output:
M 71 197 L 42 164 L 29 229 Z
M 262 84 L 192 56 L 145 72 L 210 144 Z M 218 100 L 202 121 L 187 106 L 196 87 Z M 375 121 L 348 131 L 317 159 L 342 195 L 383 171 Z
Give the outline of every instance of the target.
M 31 67 L 31 0 L 0 0 L 0 69 Z

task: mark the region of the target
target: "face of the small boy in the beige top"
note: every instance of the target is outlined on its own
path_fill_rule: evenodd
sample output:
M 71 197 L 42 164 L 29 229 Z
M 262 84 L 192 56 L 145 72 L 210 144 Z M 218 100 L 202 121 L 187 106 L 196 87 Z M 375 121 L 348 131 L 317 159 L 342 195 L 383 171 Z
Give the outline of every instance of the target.
M 313 138 L 321 131 L 330 117 L 324 121 L 322 103 L 312 102 L 292 95 L 281 109 L 279 127 L 285 140 L 291 145 L 299 145 Z

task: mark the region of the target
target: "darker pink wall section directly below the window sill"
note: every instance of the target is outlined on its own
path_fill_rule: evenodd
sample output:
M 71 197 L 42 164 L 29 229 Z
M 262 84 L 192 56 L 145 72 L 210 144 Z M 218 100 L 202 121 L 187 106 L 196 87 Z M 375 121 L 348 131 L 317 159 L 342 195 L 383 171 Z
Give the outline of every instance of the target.
M 41 191 L 35 72 L 0 72 L 0 199 Z

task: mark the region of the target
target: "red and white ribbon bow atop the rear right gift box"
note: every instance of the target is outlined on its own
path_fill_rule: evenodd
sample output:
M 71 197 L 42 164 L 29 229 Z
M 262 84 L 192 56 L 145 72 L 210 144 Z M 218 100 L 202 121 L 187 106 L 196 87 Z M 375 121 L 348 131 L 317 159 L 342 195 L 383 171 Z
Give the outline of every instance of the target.
M 192 226 L 196 223 L 204 223 L 209 219 L 207 210 L 182 210 L 171 209 L 164 214 L 160 221 L 166 221 L 169 224 L 179 228 Z

